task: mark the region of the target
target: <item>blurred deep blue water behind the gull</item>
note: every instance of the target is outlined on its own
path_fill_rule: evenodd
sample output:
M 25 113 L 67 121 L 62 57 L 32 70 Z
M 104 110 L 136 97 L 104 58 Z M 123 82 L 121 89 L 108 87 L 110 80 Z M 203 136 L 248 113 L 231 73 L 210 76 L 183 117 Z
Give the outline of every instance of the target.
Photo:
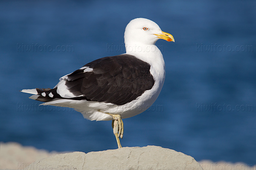
M 38 106 L 19 90 L 53 88 L 87 62 L 124 53 L 125 26 L 145 17 L 175 43 L 157 42 L 165 85 L 148 111 L 124 119 L 122 146 L 255 164 L 255 9 L 255 0 L 1 1 L 0 141 L 49 151 L 116 149 L 110 121 Z

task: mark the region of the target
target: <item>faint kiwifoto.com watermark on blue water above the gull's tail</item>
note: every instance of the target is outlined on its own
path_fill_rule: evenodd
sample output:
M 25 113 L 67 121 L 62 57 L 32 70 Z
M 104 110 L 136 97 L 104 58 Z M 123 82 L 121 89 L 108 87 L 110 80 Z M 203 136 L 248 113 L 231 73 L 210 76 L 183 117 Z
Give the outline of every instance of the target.
M 38 43 L 32 43 L 31 45 L 19 44 L 16 47 L 17 52 L 74 52 L 73 45 L 40 45 Z

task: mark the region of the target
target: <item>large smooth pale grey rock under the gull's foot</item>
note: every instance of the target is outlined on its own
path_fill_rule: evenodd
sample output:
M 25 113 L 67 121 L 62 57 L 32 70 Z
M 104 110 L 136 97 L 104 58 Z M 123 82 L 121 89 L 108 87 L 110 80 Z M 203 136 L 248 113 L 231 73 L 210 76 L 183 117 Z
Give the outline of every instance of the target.
M 203 170 L 191 156 L 158 146 L 73 152 L 35 161 L 24 170 Z

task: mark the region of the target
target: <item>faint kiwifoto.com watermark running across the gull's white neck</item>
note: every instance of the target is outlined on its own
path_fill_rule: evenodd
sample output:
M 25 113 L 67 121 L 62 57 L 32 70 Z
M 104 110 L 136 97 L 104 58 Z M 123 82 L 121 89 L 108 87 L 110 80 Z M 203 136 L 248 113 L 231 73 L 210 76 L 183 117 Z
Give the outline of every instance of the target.
M 126 46 L 125 48 L 125 44 L 122 43 L 121 45 L 114 45 L 113 43 L 106 45 L 106 51 L 107 52 L 121 52 L 121 53 L 125 53 L 126 52 L 149 52 L 149 51 L 161 51 L 163 52 L 163 45 L 149 45 L 146 47 L 142 47 L 140 45 L 134 45 L 134 46 Z

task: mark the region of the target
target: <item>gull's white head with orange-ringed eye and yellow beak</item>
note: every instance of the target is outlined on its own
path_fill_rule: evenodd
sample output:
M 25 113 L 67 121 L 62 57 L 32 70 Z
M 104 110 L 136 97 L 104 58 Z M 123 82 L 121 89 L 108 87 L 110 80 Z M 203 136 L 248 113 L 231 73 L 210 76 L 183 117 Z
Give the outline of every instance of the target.
M 125 28 L 124 38 L 125 45 L 154 45 L 159 39 L 174 42 L 171 34 L 163 32 L 156 23 L 145 18 L 131 20 Z

